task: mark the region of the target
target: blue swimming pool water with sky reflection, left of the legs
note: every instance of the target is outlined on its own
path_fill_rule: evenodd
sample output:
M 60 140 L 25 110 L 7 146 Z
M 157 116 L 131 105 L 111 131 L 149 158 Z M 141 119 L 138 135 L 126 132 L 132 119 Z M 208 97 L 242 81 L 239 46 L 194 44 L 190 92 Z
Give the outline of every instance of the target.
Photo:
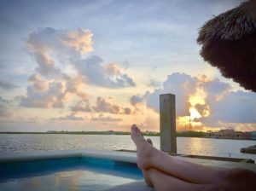
M 142 180 L 136 164 L 85 157 L 0 164 L 0 190 L 103 190 Z

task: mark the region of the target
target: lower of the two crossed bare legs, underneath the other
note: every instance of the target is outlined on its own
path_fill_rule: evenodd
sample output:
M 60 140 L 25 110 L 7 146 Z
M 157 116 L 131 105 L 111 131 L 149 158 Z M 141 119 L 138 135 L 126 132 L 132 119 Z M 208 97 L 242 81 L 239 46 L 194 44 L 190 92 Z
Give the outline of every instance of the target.
M 172 177 L 170 175 L 167 175 L 161 171 L 158 171 L 154 168 L 149 169 L 148 171 L 145 171 L 145 174 L 150 179 L 150 182 L 153 183 L 154 189 L 156 191 L 183 191 L 183 190 L 189 190 L 189 191 L 223 191 L 223 188 L 220 188 L 218 186 L 214 186 L 211 184 L 195 184 L 190 182 L 185 182 L 180 179 L 177 179 L 176 177 Z

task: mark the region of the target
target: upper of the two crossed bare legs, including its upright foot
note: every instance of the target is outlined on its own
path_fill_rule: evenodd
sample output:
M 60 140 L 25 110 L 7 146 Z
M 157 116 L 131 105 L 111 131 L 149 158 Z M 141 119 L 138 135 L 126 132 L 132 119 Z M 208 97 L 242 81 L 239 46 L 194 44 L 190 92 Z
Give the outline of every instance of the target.
M 229 177 L 232 177 L 230 180 L 237 179 L 237 175 L 230 174 L 230 171 L 196 165 L 161 152 L 146 142 L 136 125 L 131 127 L 131 139 L 137 145 L 137 165 L 143 170 L 155 168 L 186 182 L 224 185 L 226 188 L 230 187 L 230 182 L 227 181 Z M 255 174 L 249 172 L 251 173 L 250 180 L 253 180 L 252 177 L 253 175 L 255 177 Z

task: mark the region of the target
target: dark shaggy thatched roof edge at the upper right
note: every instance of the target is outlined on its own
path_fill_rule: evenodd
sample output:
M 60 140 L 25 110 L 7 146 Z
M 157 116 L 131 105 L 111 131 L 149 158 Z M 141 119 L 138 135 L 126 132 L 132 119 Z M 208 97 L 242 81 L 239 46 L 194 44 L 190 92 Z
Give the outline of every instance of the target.
M 247 90 L 256 92 L 256 1 L 241 3 L 201 27 L 201 56 Z

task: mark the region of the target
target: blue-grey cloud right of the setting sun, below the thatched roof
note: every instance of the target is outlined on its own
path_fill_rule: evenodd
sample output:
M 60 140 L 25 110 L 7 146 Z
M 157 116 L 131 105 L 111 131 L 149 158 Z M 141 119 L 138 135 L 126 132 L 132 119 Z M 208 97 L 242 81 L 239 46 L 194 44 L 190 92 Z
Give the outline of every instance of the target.
M 209 97 L 214 95 L 209 94 Z M 223 123 L 256 123 L 256 94 L 246 91 L 230 91 L 222 99 L 207 99 L 210 115 L 197 119 L 208 126 Z

